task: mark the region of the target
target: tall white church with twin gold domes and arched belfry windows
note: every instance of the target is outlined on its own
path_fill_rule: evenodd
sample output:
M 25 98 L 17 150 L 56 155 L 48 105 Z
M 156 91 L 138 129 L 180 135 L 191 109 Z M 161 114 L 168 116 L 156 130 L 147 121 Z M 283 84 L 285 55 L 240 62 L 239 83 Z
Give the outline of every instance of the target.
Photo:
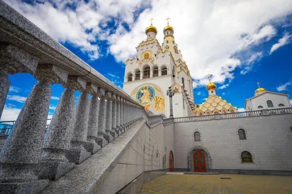
M 164 42 L 156 39 L 157 29 L 146 28 L 146 40 L 137 49 L 137 56 L 125 62 L 123 90 L 145 107 L 149 114 L 170 115 L 170 89 L 175 92 L 173 116 L 192 116 L 194 111 L 193 81 L 181 51 L 174 39 L 174 29 L 164 28 Z

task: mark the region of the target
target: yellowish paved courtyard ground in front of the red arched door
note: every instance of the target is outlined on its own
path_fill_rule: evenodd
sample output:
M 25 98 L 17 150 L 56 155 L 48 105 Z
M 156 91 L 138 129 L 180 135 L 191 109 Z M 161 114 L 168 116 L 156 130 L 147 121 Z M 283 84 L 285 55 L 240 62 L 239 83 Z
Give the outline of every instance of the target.
M 164 175 L 146 182 L 140 194 L 292 194 L 292 177 Z

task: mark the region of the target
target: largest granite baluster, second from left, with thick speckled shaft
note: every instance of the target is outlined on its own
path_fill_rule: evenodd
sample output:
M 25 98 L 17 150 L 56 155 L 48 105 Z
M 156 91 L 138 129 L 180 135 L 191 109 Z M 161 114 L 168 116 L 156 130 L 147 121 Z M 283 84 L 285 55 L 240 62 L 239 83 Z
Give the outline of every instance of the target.
M 38 65 L 33 86 L 0 152 L 0 191 L 37 193 L 49 180 L 38 179 L 53 83 L 65 83 L 68 73 L 55 65 Z

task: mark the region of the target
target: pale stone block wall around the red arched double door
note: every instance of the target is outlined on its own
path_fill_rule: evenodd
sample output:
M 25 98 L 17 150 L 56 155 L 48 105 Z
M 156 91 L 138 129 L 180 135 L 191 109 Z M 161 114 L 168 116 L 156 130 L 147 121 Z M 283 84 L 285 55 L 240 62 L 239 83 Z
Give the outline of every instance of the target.
M 292 171 L 291 126 L 292 114 L 175 123 L 175 168 L 186 169 L 188 152 L 202 146 L 212 169 Z M 246 140 L 239 140 L 240 128 Z M 195 131 L 200 142 L 194 141 Z M 242 151 L 253 155 L 253 163 L 241 163 Z

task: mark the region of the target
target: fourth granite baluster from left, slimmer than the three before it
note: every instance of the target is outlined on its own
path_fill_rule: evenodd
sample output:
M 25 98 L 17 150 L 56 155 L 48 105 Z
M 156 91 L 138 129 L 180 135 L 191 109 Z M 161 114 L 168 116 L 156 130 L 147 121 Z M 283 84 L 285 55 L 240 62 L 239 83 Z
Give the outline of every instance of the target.
M 86 83 L 86 89 L 78 97 L 74 115 L 74 125 L 72 131 L 72 139 L 70 151 L 67 158 L 70 162 L 81 163 L 90 157 L 85 147 L 87 143 L 88 116 L 90 109 L 89 95 L 97 92 L 97 87 L 90 82 Z

